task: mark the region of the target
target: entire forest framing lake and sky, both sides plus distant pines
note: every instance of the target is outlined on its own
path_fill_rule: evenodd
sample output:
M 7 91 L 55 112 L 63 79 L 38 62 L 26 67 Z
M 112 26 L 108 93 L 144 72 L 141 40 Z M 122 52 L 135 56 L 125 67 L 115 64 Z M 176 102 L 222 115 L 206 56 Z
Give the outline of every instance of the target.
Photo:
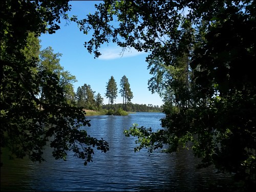
M 87 98 L 95 100 L 90 106 L 82 98 L 90 85 L 75 93 L 75 77 L 59 65 L 59 53 L 38 47 L 41 34 L 55 33 L 67 19 L 95 58 L 109 43 L 149 53 L 148 88 L 163 98 L 166 117 L 157 132 L 137 125 L 124 131 L 138 137 L 135 152 L 168 146 L 164 152 L 174 153 L 193 143 L 199 168 L 214 165 L 255 190 L 255 1 L 103 1 L 83 19 L 68 15 L 69 3 L 1 1 L 1 154 L 9 148 L 13 158 L 41 162 L 49 138 L 55 159 L 73 151 L 84 165 L 94 149 L 110 150 L 108 141 L 80 129 L 91 125 L 83 109 L 99 110 L 102 96 Z M 122 110 L 137 111 L 125 76 L 120 84 Z M 105 93 L 111 110 L 117 92 L 111 77 Z

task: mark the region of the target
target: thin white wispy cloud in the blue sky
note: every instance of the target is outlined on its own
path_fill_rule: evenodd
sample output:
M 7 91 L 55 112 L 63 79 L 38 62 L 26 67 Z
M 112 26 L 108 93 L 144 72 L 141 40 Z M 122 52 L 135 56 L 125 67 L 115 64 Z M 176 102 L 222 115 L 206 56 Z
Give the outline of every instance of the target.
M 122 48 L 119 47 L 107 47 L 103 48 L 100 50 L 101 55 L 99 56 L 98 59 L 101 60 L 110 60 L 110 59 L 117 59 L 117 58 L 122 58 L 122 57 L 134 57 L 137 55 L 145 54 L 145 52 L 138 52 L 134 48 L 131 49 L 126 49 L 122 52 Z

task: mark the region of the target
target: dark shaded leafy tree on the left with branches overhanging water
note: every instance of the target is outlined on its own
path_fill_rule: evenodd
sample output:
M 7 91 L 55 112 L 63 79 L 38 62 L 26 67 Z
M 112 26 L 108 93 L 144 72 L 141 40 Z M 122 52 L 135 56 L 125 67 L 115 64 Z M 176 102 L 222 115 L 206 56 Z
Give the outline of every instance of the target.
M 38 37 L 58 30 L 57 23 L 67 19 L 69 10 L 68 1 L 1 2 L 1 154 L 6 147 L 13 157 L 41 162 L 49 142 L 55 159 L 66 160 L 73 151 L 86 165 L 92 161 L 92 147 L 109 150 L 105 140 L 81 129 L 90 126 L 90 120 L 67 102 L 58 74 L 39 70 L 37 42 L 30 40 L 30 33 Z M 38 98 L 40 90 L 43 100 Z

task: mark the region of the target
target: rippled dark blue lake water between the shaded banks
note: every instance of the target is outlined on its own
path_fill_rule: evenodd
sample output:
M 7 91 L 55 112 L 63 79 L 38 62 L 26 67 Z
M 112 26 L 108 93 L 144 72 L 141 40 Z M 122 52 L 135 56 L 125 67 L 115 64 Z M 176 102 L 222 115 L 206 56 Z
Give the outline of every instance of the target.
M 163 113 L 135 113 L 127 116 L 88 116 L 89 135 L 109 142 L 110 151 L 95 148 L 93 162 L 83 165 L 70 153 L 67 161 L 55 160 L 49 148 L 46 162 L 33 163 L 26 158 L 7 160 L 1 156 L 1 191 L 200 191 L 231 190 L 231 176 L 218 173 L 214 167 L 197 169 L 199 159 L 191 151 L 178 154 L 147 149 L 134 152 L 134 137 L 125 137 L 133 123 L 161 129 Z M 232 189 L 233 190 L 233 189 Z

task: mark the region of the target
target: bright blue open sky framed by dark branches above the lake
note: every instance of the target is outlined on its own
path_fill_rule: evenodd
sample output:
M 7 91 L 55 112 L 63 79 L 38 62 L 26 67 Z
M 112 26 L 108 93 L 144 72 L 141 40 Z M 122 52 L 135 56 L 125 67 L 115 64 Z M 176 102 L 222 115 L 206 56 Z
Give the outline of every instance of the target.
M 86 18 L 87 14 L 95 12 L 94 5 L 98 3 L 100 1 L 71 1 L 72 8 L 68 15 L 77 15 L 78 19 Z M 159 106 L 163 104 L 160 96 L 157 93 L 152 94 L 148 89 L 148 80 L 153 76 L 147 70 L 147 53 L 126 50 L 121 56 L 121 48 L 116 44 L 109 44 L 101 46 L 102 55 L 95 59 L 94 54 L 90 54 L 83 45 L 84 41 L 91 39 L 90 35 L 83 34 L 74 22 L 68 22 L 67 25 L 66 20 L 61 22 L 60 29 L 54 34 L 41 34 L 39 39 L 41 50 L 52 47 L 54 53 L 62 54 L 60 65 L 76 77 L 77 82 L 73 83 L 75 92 L 84 83 L 90 84 L 95 95 L 100 93 L 103 103 L 108 104 L 109 99 L 105 97 L 106 84 L 113 76 L 118 89 L 115 103 L 122 103 L 120 80 L 125 75 L 133 92 L 132 103 Z

